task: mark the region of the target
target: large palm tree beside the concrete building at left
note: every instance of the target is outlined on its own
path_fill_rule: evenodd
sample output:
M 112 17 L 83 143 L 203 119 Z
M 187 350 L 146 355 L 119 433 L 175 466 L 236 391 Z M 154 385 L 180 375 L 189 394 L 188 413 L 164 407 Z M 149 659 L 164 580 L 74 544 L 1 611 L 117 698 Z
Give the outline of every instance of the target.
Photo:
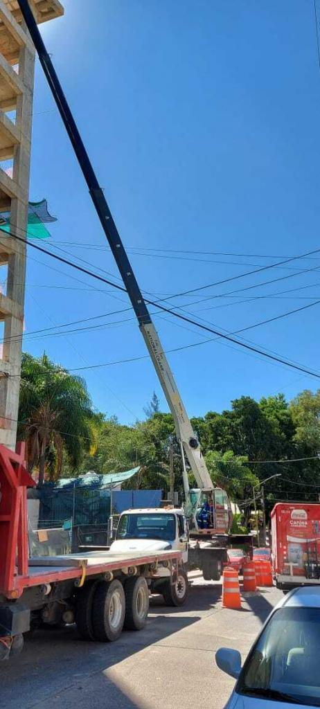
M 61 474 L 63 454 L 72 468 L 82 453 L 94 452 L 101 417 L 92 411 L 87 386 L 46 354 L 23 354 L 18 415 L 18 437 L 27 442 L 28 469 L 39 471 L 43 484 L 45 470 L 51 479 Z

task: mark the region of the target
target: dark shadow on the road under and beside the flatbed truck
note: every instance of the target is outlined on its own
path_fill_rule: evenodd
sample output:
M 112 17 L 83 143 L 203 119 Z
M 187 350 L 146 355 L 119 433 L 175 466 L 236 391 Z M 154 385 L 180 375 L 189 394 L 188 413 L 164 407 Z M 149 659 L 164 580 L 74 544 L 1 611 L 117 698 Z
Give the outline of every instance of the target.
M 43 709 L 54 700 L 59 709 L 133 709 L 133 688 L 125 693 L 112 680 L 115 666 L 145 648 L 197 623 L 214 610 L 221 584 L 194 586 L 182 608 L 164 605 L 162 596 L 150 603 L 148 623 L 140 632 L 123 632 L 117 642 L 101 644 L 79 639 L 77 628 L 38 630 L 26 640 L 22 654 L 0 666 L 1 702 L 10 709 Z M 94 687 L 94 691 L 93 691 Z M 101 696 L 107 703 L 101 703 Z M 140 701 L 139 707 L 143 707 Z

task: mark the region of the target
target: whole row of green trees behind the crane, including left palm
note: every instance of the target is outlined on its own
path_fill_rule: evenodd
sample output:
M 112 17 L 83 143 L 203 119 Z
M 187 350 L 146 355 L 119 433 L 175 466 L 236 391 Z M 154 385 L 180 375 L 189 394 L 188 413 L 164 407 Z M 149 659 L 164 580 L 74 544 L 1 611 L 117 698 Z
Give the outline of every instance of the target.
M 97 473 L 140 466 L 140 488 L 170 487 L 170 447 L 175 489 L 182 493 L 182 462 L 170 413 L 159 411 L 155 392 L 146 418 L 122 425 L 94 413 L 83 379 L 44 354 L 23 354 L 18 435 L 28 443 L 28 466 L 51 479 L 89 469 Z M 252 489 L 265 486 L 267 507 L 277 499 L 315 501 L 320 491 L 320 390 L 261 398 L 241 396 L 221 413 L 192 418 L 212 480 L 233 501 L 250 506 Z M 286 462 L 287 461 L 287 462 Z M 277 477 L 274 477 L 277 476 Z M 190 484 L 195 485 L 191 472 Z

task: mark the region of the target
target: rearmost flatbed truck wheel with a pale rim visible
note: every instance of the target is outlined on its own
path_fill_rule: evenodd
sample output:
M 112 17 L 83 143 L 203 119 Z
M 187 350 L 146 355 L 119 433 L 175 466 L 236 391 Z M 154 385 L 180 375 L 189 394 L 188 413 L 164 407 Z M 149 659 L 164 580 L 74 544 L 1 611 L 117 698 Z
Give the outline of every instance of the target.
M 99 642 L 118 640 L 125 613 L 126 598 L 120 581 L 99 581 L 92 603 L 94 639 Z

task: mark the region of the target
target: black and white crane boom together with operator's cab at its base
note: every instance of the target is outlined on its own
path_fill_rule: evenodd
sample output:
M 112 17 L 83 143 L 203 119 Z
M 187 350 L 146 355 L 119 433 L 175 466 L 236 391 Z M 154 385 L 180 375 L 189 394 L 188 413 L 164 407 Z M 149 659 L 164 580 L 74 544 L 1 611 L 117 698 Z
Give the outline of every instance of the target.
M 133 273 L 133 269 L 128 260 L 126 250 L 123 247 L 120 235 L 109 210 L 108 203 L 104 196 L 104 191 L 99 186 L 96 174 L 89 160 L 87 150 L 84 147 L 81 135 L 77 129 L 75 119 L 72 116 L 70 106 L 67 103 L 62 86 L 53 67 L 53 62 L 45 48 L 43 39 L 38 30 L 35 18 L 29 6 L 28 0 L 18 0 L 23 19 L 26 23 L 35 50 L 38 53 L 40 64 L 43 67 L 45 77 L 60 111 L 60 116 L 65 124 L 72 146 L 75 150 L 77 160 L 87 182 L 89 193 L 99 216 L 101 226 L 111 247 L 111 251 L 116 260 L 118 270 L 121 274 L 123 284 L 131 300 L 133 310 L 138 318 L 139 328 L 148 348 L 151 360 L 158 374 L 160 384 L 165 393 L 167 403 L 170 407 L 177 440 L 180 442 L 183 463 L 183 481 L 186 502 L 186 511 L 190 519 L 193 520 L 197 531 L 211 530 L 212 532 L 228 532 L 231 523 L 231 508 L 226 493 L 214 488 L 206 463 L 202 457 L 197 437 L 194 435 L 187 411 L 184 408 L 177 384 L 172 375 L 170 366 L 165 357 L 159 336 L 150 318 L 147 305 L 140 291 L 138 282 Z M 194 478 L 197 481 L 198 489 L 189 490 L 187 470 L 185 467 L 185 457 L 192 469 Z

